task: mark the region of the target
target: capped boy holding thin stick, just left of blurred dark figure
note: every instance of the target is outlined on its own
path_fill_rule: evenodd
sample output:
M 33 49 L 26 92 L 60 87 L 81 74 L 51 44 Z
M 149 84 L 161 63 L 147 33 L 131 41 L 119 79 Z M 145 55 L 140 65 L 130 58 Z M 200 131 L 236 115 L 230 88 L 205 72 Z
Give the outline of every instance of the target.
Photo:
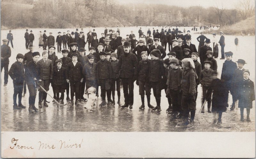
M 211 102 L 212 102 L 212 74 L 213 70 L 210 68 L 212 62 L 204 61 L 204 69 L 201 72 L 201 86 L 203 89 L 202 105 L 205 100 L 207 100 L 208 112 L 211 112 Z M 204 113 L 204 106 L 201 113 Z

